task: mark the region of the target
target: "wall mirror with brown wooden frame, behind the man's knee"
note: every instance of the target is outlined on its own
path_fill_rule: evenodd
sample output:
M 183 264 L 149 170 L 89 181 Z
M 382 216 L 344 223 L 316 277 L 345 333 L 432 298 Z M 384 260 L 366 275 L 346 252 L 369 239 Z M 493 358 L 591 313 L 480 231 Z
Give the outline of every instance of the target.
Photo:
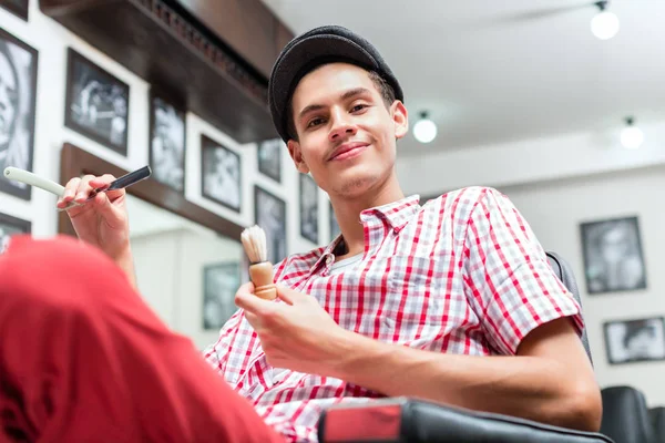
M 64 144 L 61 182 L 85 174 L 120 177 L 126 171 Z M 237 309 L 237 288 L 248 280 L 243 227 L 153 178 L 127 188 L 127 210 L 142 297 L 171 329 L 191 338 L 198 349 L 215 342 L 219 328 Z M 65 213 L 59 214 L 58 222 L 60 234 L 75 236 Z

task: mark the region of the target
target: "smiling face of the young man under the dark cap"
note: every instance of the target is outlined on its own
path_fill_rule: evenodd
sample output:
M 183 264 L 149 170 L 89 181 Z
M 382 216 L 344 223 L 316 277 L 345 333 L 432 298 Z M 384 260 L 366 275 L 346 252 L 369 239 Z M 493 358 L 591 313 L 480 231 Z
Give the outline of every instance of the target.
M 366 70 L 331 63 L 311 71 L 294 91 L 291 112 L 298 136 L 288 142 L 291 158 L 331 197 L 359 197 L 396 182 L 407 110 L 400 101 L 387 104 Z

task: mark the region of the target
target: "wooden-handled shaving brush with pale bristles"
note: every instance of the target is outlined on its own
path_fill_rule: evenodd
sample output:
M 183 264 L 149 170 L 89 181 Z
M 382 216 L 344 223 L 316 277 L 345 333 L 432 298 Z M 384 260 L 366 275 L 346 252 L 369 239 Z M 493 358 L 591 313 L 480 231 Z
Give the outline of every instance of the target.
M 277 298 L 277 288 L 273 282 L 273 264 L 268 261 L 266 233 L 260 226 L 252 226 L 241 235 L 243 247 L 249 258 L 249 278 L 254 284 L 254 295 L 265 300 Z

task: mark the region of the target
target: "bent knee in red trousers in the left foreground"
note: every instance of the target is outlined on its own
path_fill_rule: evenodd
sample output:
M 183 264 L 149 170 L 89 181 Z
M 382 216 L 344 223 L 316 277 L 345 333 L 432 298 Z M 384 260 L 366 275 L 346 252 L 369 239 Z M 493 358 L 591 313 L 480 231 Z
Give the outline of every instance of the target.
M 0 257 L 6 441 L 284 440 L 101 251 L 68 237 L 14 237 Z

